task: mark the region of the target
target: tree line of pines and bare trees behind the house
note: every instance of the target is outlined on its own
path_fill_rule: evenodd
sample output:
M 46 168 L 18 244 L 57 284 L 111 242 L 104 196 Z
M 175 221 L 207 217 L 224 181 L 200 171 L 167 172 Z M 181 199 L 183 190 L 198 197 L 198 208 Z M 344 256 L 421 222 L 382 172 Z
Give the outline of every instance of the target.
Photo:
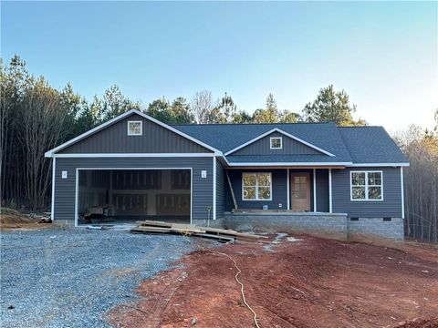
M 44 77 L 34 77 L 26 62 L 14 56 L 6 65 L 0 62 L 0 184 L 1 204 L 12 208 L 48 210 L 51 196 L 48 149 L 74 138 L 121 113 L 136 108 L 168 124 L 255 124 L 334 122 L 340 126 L 360 126 L 357 108 L 346 91 L 330 85 L 318 90 L 315 100 L 300 113 L 279 109 L 272 94 L 266 104 L 252 114 L 238 108 L 227 93 L 214 98 L 211 91 L 195 93 L 190 100 L 165 97 L 148 106 L 132 101 L 111 86 L 90 101 L 68 84 L 62 89 L 50 86 Z M 438 113 L 436 114 L 438 126 Z M 415 238 L 437 240 L 437 160 L 438 131 L 411 128 L 397 136 L 401 149 L 411 161 L 405 169 L 406 231 Z

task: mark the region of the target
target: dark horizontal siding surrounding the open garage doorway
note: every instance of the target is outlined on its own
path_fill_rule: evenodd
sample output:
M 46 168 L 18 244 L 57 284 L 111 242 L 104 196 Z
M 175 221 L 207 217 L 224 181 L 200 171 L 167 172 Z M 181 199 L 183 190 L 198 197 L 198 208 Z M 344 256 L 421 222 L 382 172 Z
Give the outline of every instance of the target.
M 193 169 L 193 220 L 206 220 L 208 207 L 213 206 L 213 160 L 204 158 L 58 158 L 55 173 L 54 220 L 74 220 L 76 169 L 93 168 L 192 168 Z M 201 178 L 201 171 L 207 177 Z M 62 171 L 68 178 L 62 179 Z

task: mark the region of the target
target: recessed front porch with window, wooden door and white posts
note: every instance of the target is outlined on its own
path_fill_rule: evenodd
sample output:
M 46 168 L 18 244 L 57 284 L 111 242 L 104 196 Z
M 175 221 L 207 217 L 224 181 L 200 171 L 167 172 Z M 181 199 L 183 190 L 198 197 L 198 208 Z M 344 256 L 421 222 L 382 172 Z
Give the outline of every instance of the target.
M 241 168 L 225 175 L 226 211 L 332 212 L 331 168 Z

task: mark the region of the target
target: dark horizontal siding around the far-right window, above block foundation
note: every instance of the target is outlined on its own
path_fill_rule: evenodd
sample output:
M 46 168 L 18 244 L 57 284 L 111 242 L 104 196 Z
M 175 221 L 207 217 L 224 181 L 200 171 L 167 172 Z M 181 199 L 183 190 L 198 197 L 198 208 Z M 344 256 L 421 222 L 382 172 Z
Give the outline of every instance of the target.
M 383 200 L 350 200 L 350 171 L 382 171 Z M 401 218 L 400 168 L 332 169 L 333 212 L 349 218 Z

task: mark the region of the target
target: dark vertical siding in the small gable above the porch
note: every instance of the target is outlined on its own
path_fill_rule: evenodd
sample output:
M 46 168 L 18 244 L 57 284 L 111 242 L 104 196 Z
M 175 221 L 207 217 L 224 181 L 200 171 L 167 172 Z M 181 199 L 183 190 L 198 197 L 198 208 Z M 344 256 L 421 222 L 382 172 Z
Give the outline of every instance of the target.
M 270 149 L 270 138 L 281 137 L 283 138 L 282 149 Z M 233 153 L 233 155 L 321 155 L 322 153 L 316 149 L 312 149 L 305 144 L 289 138 L 282 133 L 273 132 L 270 135 L 261 138 L 252 144 L 239 149 Z

